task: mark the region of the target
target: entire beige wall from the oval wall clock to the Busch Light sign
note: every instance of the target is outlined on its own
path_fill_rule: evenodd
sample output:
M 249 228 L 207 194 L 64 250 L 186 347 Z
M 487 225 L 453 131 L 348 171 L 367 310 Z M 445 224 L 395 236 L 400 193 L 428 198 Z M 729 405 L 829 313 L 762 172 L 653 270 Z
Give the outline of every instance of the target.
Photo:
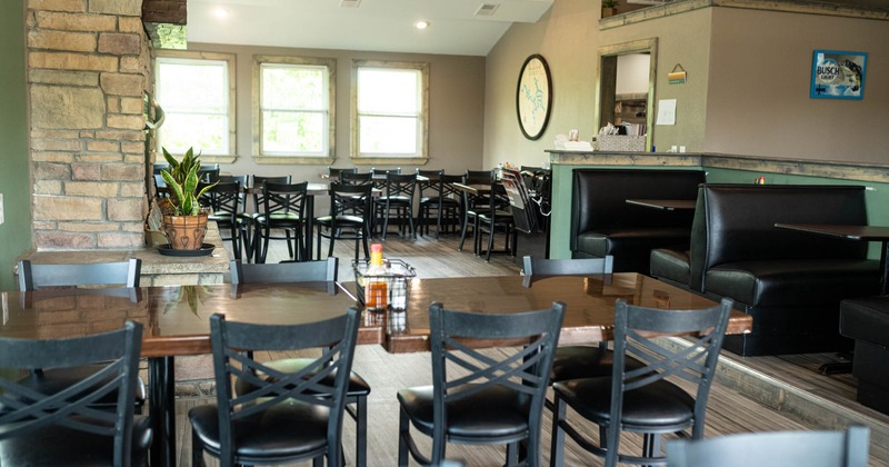
M 539 165 L 557 133 L 593 133 L 597 49 L 658 38 L 655 99 L 676 99 L 676 126 L 655 126 L 658 151 L 886 162 L 889 27 L 886 21 L 703 8 L 599 30 L 599 2 L 559 0 L 535 24 L 515 24 L 488 56 L 485 165 Z M 809 98 L 815 49 L 869 53 L 865 99 Z M 541 53 L 552 73 L 552 116 L 538 141 L 516 117 L 521 63 Z M 669 85 L 679 63 L 685 85 Z M 655 108 L 657 112 L 657 107 Z

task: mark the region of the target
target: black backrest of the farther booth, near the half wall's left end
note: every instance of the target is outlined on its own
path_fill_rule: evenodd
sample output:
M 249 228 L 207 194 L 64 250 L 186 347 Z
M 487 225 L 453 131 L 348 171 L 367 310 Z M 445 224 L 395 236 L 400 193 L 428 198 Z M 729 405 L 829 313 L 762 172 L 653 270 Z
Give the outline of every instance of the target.
M 597 229 L 679 227 L 691 213 L 627 205 L 628 199 L 695 199 L 701 170 L 575 169 L 571 250 L 577 236 Z

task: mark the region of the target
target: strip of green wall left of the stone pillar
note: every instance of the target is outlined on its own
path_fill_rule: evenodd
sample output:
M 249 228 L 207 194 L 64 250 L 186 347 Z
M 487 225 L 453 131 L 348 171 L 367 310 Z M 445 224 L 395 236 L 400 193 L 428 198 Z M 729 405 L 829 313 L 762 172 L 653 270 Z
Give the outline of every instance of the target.
M 12 266 L 31 248 L 24 0 L 0 2 L 0 290 L 14 290 Z

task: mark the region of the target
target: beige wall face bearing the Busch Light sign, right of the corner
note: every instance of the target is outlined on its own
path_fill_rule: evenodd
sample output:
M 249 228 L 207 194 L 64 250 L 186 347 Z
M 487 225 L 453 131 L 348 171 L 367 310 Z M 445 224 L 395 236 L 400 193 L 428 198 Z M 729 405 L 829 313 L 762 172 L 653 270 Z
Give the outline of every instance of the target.
M 887 21 L 715 9 L 712 44 L 703 150 L 889 162 Z M 863 100 L 809 98 L 815 49 L 869 53 Z

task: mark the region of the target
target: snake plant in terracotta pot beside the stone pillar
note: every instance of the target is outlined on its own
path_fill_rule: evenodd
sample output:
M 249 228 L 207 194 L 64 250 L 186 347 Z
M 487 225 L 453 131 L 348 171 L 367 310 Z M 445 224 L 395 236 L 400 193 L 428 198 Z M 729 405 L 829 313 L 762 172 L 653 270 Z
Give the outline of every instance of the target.
M 207 235 L 209 212 L 201 207 L 199 199 L 216 186 L 216 182 L 200 187 L 198 178 L 198 169 L 201 167 L 200 155 L 194 156 L 193 148 L 186 151 L 181 161 L 176 160 L 167 148 L 162 149 L 163 158 L 169 165 L 160 171 L 170 192 L 170 197 L 161 206 L 167 240 L 172 249 L 200 249 Z

